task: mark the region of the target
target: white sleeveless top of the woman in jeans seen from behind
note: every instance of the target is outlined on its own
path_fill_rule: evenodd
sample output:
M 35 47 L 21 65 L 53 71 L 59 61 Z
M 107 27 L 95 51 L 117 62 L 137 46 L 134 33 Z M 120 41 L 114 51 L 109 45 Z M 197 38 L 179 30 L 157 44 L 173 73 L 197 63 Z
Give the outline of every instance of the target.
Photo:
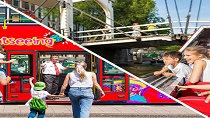
M 85 72 L 86 78 L 81 79 L 80 75 L 75 71 L 70 73 L 70 87 L 93 87 L 92 72 Z

